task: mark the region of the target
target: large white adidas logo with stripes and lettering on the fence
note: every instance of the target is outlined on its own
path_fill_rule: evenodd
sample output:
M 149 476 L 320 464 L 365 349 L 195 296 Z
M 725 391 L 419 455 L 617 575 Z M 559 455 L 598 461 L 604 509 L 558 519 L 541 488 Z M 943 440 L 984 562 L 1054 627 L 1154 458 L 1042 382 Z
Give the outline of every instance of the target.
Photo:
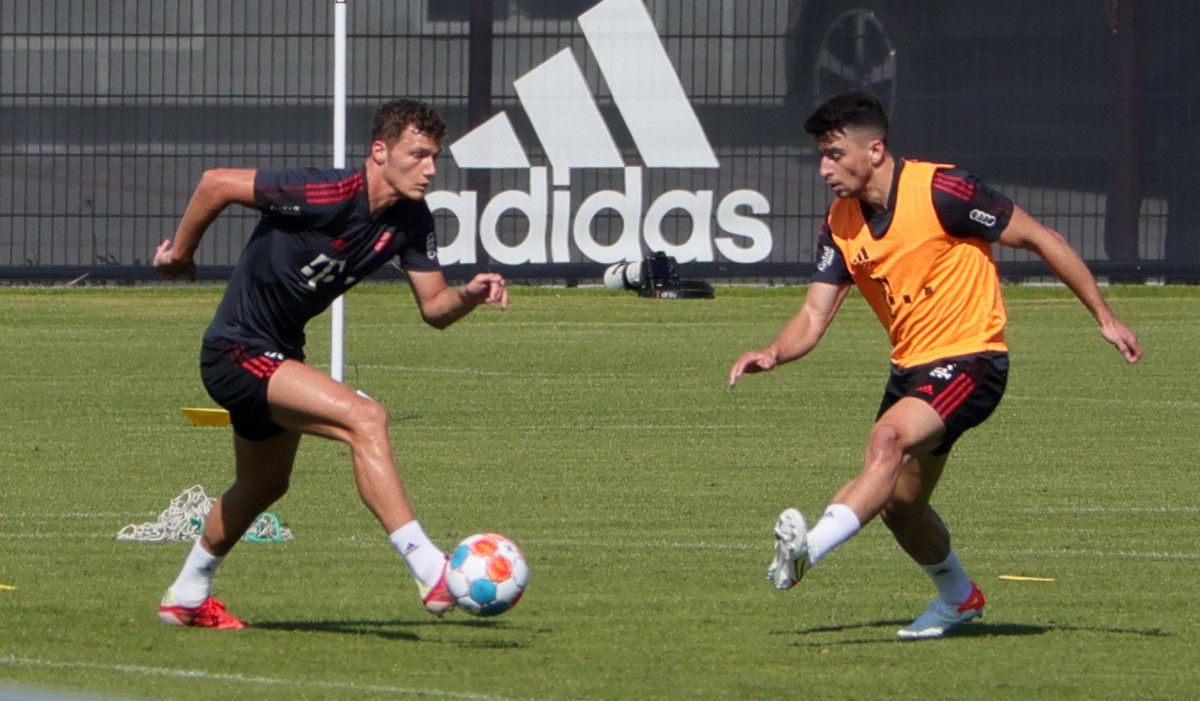
M 446 210 L 458 223 L 455 239 L 438 248 L 442 263 L 475 263 L 476 241 L 505 265 L 569 263 L 571 244 L 586 259 L 604 264 L 640 260 L 643 242 L 680 263 L 712 262 L 714 248 L 733 263 L 766 259 L 772 251 L 770 227 L 754 216 L 770 212 L 761 192 L 734 190 L 716 202 L 712 190 L 670 190 L 643 206 L 646 168 L 719 168 L 720 163 L 641 0 L 602 0 L 578 23 L 643 164 L 625 163 L 575 54 L 565 48 L 512 83 L 548 167 L 530 163 L 505 112 L 450 144 L 460 168 L 528 169 L 529 187 L 496 194 L 482 211 L 478 192 L 428 193 L 430 209 Z M 572 208 L 569 187 L 571 172 L 578 168 L 622 168 L 624 190 L 594 192 Z M 610 244 L 592 234 L 592 222 L 604 210 L 622 220 L 620 234 Z M 691 220 L 690 235 L 679 242 L 662 233 L 662 221 L 676 210 Z M 500 217 L 510 211 L 529 222 L 517 244 L 502 241 L 497 233 Z

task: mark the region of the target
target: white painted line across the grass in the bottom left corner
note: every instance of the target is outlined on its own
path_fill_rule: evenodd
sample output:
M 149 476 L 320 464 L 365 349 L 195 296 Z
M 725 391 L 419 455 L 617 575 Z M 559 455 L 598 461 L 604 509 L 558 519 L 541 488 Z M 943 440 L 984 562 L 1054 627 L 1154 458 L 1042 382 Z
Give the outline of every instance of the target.
M 406 696 L 437 696 L 442 699 L 478 699 L 480 701 L 502 701 L 503 696 L 472 694 L 469 691 L 444 691 L 440 689 L 419 689 L 409 687 L 384 687 L 377 684 L 355 684 L 354 682 L 320 682 L 305 679 L 284 679 L 280 677 L 248 677 L 226 672 L 206 672 L 204 670 L 180 670 L 173 667 L 148 667 L 143 665 L 107 665 L 101 663 L 71 663 L 58 660 L 0 657 L 0 665 L 10 667 L 40 667 L 56 670 L 95 670 L 116 675 L 137 677 L 176 677 L 184 679 L 203 679 L 211 682 L 235 682 L 266 687 L 296 687 L 301 689 L 346 690 L 374 694 L 402 694 Z

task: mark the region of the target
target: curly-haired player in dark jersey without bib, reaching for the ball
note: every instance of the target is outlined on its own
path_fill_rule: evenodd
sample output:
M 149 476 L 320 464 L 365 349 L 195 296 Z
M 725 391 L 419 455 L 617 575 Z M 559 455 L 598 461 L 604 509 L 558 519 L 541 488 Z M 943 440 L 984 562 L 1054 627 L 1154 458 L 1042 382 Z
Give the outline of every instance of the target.
M 236 475 L 209 514 L 158 607 L 168 625 L 244 628 L 212 597 L 217 565 L 288 490 L 301 435 L 346 443 L 359 495 L 404 558 L 425 607 L 454 606 L 445 555 L 426 537 L 397 474 L 388 412 L 305 364 L 305 324 L 391 258 L 404 269 L 421 318 L 445 328 L 480 304 L 508 308 L 504 278 L 448 287 L 425 193 L 445 124 L 412 100 L 384 104 L 358 168 L 211 169 L 200 178 L 174 240 L 155 251 L 166 277 L 196 276 L 192 256 L 230 204 L 262 212 L 204 334 L 200 376 L 229 411 Z

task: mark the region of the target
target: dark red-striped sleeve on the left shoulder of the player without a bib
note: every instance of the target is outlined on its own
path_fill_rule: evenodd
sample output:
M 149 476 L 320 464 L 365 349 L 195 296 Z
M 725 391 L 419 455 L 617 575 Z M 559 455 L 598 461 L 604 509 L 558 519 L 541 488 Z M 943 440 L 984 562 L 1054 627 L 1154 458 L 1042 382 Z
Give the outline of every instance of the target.
M 254 205 L 283 228 L 324 228 L 343 220 L 365 187 L 361 172 L 319 168 L 258 170 Z

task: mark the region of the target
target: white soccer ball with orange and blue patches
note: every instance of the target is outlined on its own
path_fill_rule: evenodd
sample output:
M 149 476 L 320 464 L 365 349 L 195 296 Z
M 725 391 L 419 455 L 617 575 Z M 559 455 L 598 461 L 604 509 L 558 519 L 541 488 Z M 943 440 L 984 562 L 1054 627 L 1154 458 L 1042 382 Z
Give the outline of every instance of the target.
M 504 613 L 517 605 L 528 582 L 521 549 L 497 533 L 469 535 L 450 553 L 446 588 L 468 613 Z

